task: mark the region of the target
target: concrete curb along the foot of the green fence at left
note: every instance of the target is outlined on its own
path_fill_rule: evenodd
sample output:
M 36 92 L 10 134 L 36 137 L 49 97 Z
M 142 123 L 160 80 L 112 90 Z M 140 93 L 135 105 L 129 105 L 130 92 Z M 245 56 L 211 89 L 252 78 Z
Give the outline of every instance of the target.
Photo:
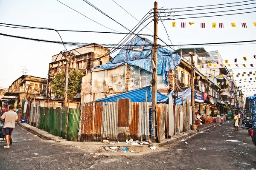
M 20 122 L 17 122 L 17 124 L 22 127 L 23 129 L 26 129 L 27 131 L 31 132 L 31 133 L 34 133 L 35 135 L 39 136 L 40 138 L 42 139 L 47 139 L 47 140 L 55 140 L 55 141 L 58 141 L 58 140 L 61 140 L 62 138 L 59 137 L 59 136 L 54 136 L 44 130 L 41 130 L 41 129 L 38 129 L 37 127 L 34 127 L 34 126 L 31 126 L 29 124 L 26 124 L 26 123 L 20 123 Z

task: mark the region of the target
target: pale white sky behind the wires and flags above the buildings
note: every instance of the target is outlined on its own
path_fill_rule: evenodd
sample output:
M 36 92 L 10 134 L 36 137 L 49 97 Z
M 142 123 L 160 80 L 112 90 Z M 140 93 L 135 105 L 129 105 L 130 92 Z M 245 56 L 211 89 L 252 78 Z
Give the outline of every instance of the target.
M 96 11 L 93 7 L 89 6 L 83 0 L 60 0 L 62 3 L 70 6 L 71 8 L 79 11 L 85 16 L 101 23 L 116 31 L 125 32 L 125 28 L 122 28 L 113 20 L 109 19 L 105 15 Z M 181 8 L 189 6 L 204 6 L 214 5 L 222 3 L 240 2 L 244 0 L 158 0 L 158 8 Z M 115 0 L 120 6 L 125 8 L 130 14 L 132 14 L 138 20 L 141 20 L 145 14 L 154 8 L 154 0 Z M 127 12 L 120 8 L 112 0 L 90 0 L 90 3 L 95 5 L 97 8 L 108 14 L 114 20 L 121 23 L 123 26 L 132 29 L 138 22 L 131 17 Z M 246 3 L 256 3 L 256 1 L 250 1 Z M 245 3 L 230 4 L 224 6 L 239 5 Z M 220 7 L 220 6 L 212 6 Z M 212 7 L 201 7 L 201 8 L 212 8 Z M 213 10 L 198 10 L 189 12 L 176 12 L 178 14 L 195 14 L 212 11 L 225 11 L 232 9 L 241 8 L 252 8 L 256 7 L 256 4 L 247 6 L 237 6 L 232 8 L 217 8 Z M 198 8 L 199 9 L 199 8 Z M 186 10 L 186 9 L 179 9 Z M 0 23 L 17 24 L 24 26 L 35 26 L 35 27 L 47 27 L 54 29 L 67 29 L 67 30 L 83 30 L 83 31 L 111 31 L 97 23 L 87 19 L 81 14 L 73 11 L 72 9 L 59 3 L 57 0 L 0 0 Z M 173 11 L 178 11 L 173 10 Z M 247 11 L 255 11 L 253 9 L 231 11 L 227 13 L 240 13 Z M 221 13 L 205 14 L 205 15 L 216 15 Z M 222 13 L 223 14 L 223 13 Z M 193 15 L 195 16 L 195 15 Z M 196 15 L 198 16 L 198 15 Z M 201 15 L 202 16 L 202 15 Z M 192 17 L 181 16 L 181 17 Z M 175 17 L 178 18 L 178 17 Z M 163 19 L 163 17 L 162 17 Z M 147 20 L 145 23 L 148 23 Z M 176 27 L 172 27 L 173 20 L 164 21 L 164 25 L 167 29 L 170 39 L 174 45 L 177 44 L 195 44 L 195 43 L 210 43 L 210 42 L 232 42 L 232 41 L 247 41 L 256 40 L 256 26 L 253 22 L 256 22 L 256 13 L 230 15 L 221 17 L 203 17 L 194 19 L 182 19 L 175 20 Z M 186 28 L 180 28 L 180 23 L 186 22 Z M 189 25 L 189 22 L 195 22 L 193 25 Z M 200 28 L 200 23 L 205 23 L 206 28 Z M 217 23 L 217 28 L 212 28 L 212 23 Z M 218 23 L 224 23 L 224 28 L 218 28 Z M 231 23 L 236 23 L 236 28 L 231 28 Z M 241 23 L 247 23 L 247 28 L 242 28 Z M 142 27 L 139 28 L 139 30 Z M 148 29 L 153 31 L 153 22 L 148 26 Z M 143 29 L 142 34 L 153 34 L 147 28 Z M 6 28 L 0 26 L 0 33 L 10 34 L 21 37 L 30 37 L 44 40 L 60 41 L 60 37 L 55 31 L 38 30 L 38 29 L 17 29 L 17 28 Z M 120 34 L 93 34 L 93 33 L 75 33 L 75 32 L 59 32 L 63 41 L 66 42 L 84 42 L 84 43 L 100 43 L 100 44 L 116 44 L 124 35 Z M 168 44 L 171 44 L 167 39 L 166 32 L 163 28 L 162 23 L 158 22 L 158 36 Z M 151 37 L 146 37 L 153 41 Z M 158 43 L 164 45 L 164 43 L 158 40 Z M 183 46 L 186 47 L 186 46 Z M 192 47 L 192 46 L 189 46 Z M 241 73 L 256 71 L 256 59 L 253 55 L 256 55 L 256 44 L 245 45 L 199 45 L 197 47 L 204 47 L 207 51 L 218 50 L 222 58 L 229 59 L 230 64 L 234 64 L 233 59 L 238 59 L 239 69 L 234 69 L 234 73 Z M 75 47 L 67 46 L 68 50 Z M 175 47 L 177 49 L 179 47 Z M 37 42 L 32 40 L 22 40 L 12 37 L 6 37 L 0 35 L 0 87 L 8 88 L 18 77 L 23 75 L 23 68 L 26 68 L 27 74 L 35 77 L 47 77 L 49 62 L 51 57 L 58 54 L 60 51 L 65 50 L 63 45 L 58 45 L 48 42 Z M 111 56 L 114 57 L 115 54 Z M 247 57 L 247 61 L 244 61 L 242 57 Z M 247 64 L 245 69 L 241 64 Z M 253 64 L 254 68 L 251 68 L 249 64 Z M 25 67 L 24 67 L 25 66 Z M 237 68 L 235 65 L 231 65 L 231 68 Z M 236 78 L 236 77 L 235 77 Z M 244 79 L 247 77 L 237 79 Z M 250 78 L 250 77 L 249 77 Z M 248 79 L 248 78 L 247 78 Z M 255 76 L 253 76 L 255 80 Z M 253 84 L 248 85 L 247 84 Z M 239 86 L 245 85 L 243 88 L 255 88 L 255 82 L 237 84 Z M 245 95 L 255 94 L 256 91 L 246 91 Z

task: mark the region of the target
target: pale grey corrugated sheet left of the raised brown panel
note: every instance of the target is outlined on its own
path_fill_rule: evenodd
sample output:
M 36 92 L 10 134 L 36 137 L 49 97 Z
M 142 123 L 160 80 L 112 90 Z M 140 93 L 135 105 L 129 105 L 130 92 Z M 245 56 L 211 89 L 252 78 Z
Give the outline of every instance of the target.
M 105 103 L 105 104 L 104 104 Z M 103 103 L 103 138 L 116 140 L 117 130 L 117 103 Z

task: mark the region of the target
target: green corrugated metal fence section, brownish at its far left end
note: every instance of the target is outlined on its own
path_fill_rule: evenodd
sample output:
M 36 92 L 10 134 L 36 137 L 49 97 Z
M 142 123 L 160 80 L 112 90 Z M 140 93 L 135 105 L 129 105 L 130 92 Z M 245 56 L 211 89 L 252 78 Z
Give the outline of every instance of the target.
M 74 108 L 44 108 L 38 103 L 26 102 L 26 112 L 23 113 L 23 119 L 26 123 L 39 129 L 45 130 L 52 135 L 60 136 L 69 141 L 77 141 L 80 109 Z M 67 113 L 67 111 L 69 111 Z M 68 124 L 67 124 L 68 116 Z M 67 129 L 67 133 L 66 133 Z M 67 135 L 66 135 L 67 134 Z

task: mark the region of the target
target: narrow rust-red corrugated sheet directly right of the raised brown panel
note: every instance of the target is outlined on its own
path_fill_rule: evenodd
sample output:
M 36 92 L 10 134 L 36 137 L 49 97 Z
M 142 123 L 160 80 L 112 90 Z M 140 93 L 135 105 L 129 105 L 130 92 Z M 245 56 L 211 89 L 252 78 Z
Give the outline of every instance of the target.
M 139 102 L 131 102 L 131 138 L 139 139 Z

